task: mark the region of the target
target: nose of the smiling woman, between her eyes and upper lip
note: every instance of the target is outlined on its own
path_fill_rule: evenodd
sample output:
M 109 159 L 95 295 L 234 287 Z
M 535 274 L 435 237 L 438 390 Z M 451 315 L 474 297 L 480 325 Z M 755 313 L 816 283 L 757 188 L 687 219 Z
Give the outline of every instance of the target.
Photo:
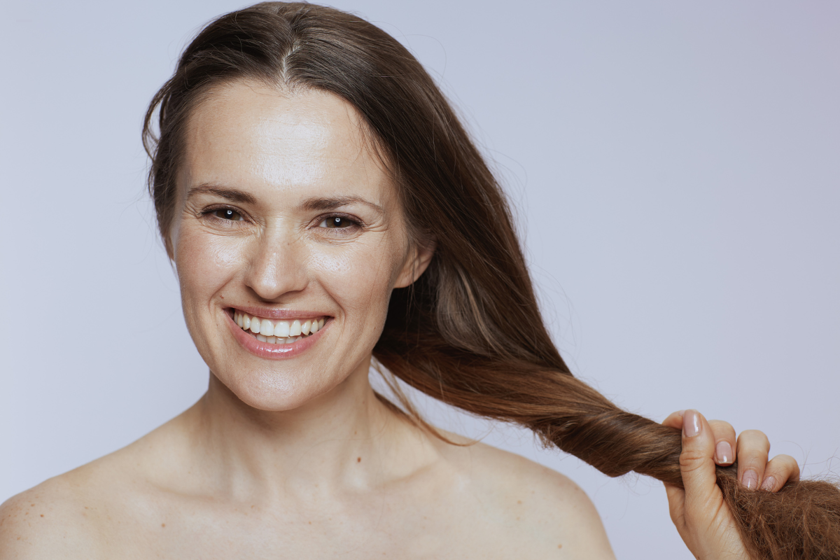
M 277 300 L 307 285 L 306 250 L 300 239 L 281 228 L 255 239 L 245 285 L 263 300 Z

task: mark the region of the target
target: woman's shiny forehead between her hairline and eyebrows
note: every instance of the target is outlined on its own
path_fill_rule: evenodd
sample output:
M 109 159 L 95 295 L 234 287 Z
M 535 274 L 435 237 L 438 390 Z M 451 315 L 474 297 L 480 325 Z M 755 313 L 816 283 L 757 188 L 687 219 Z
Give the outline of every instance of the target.
M 185 140 L 181 186 L 391 198 L 359 114 L 327 92 L 288 93 L 250 82 L 218 87 L 193 110 Z

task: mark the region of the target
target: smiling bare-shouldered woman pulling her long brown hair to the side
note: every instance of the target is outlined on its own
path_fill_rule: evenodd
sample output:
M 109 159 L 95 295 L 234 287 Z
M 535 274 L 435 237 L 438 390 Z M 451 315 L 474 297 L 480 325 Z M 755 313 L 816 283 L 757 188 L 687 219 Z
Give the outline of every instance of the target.
M 372 352 L 609 474 L 685 482 L 669 499 L 692 552 L 746 553 L 712 463 L 721 440 L 734 451 L 731 427 L 694 411 L 666 421 L 683 427 L 680 477 L 672 432 L 568 375 L 534 320 L 495 181 L 396 42 L 331 10 L 245 10 L 193 42 L 150 118 L 159 102 L 153 195 L 210 389 L 133 446 L 8 503 L 9 550 L 70 536 L 61 550 L 85 557 L 611 555 L 566 479 L 436 438 L 377 399 Z M 743 484 L 795 479 L 790 458 L 765 467 L 753 437 L 738 450 Z M 746 468 L 751 455 L 764 460 Z M 27 507 L 49 521 L 33 528 Z M 25 548 L 34 536 L 45 548 Z

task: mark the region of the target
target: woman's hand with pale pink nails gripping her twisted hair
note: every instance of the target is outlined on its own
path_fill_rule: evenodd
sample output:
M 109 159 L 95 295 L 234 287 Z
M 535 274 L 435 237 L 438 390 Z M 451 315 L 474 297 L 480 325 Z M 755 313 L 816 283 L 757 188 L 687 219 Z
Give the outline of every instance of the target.
M 790 455 L 768 461 L 770 444 L 764 432 L 747 430 L 736 440 L 731 424 L 706 421 L 697 411 L 675 412 L 662 423 L 682 430 L 680 470 L 685 489 L 665 484 L 665 491 L 671 521 L 686 546 L 699 560 L 748 558 L 717 485 L 715 465 L 730 465 L 738 458 L 741 484 L 770 492 L 799 479 L 799 465 Z

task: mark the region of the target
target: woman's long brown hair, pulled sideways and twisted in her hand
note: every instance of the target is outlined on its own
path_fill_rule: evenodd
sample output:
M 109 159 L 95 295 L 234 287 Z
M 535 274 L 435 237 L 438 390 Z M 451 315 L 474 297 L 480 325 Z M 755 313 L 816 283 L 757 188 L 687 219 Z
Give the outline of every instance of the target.
M 331 92 L 353 105 L 412 235 L 435 243 L 425 274 L 391 296 L 374 348 L 381 364 L 450 405 L 526 426 L 610 476 L 635 471 L 682 484 L 679 431 L 622 411 L 570 373 L 540 320 L 495 177 L 423 66 L 364 19 L 261 3 L 217 18 L 187 46 L 144 125 L 167 249 L 186 119 L 214 86 L 239 80 Z M 718 484 L 753 557 L 840 558 L 840 490 L 821 481 L 748 490 L 735 472 L 718 468 Z

